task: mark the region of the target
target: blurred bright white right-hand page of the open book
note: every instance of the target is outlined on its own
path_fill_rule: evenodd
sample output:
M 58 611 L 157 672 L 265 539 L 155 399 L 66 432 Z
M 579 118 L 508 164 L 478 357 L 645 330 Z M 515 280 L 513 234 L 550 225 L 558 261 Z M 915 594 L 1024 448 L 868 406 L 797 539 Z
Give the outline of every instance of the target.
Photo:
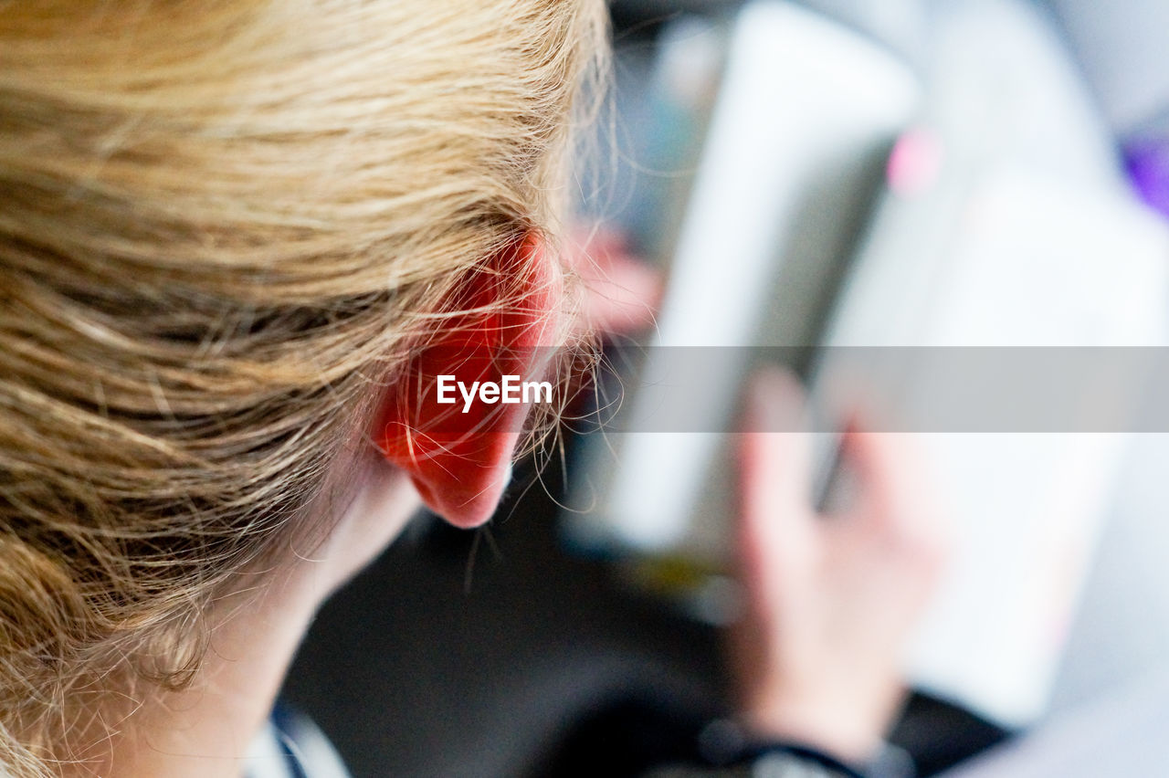
M 995 171 L 959 209 L 953 249 L 940 255 L 921 251 L 911 229 L 916 210 L 891 197 L 841 301 L 830 345 L 1165 342 L 1169 238 L 1140 207 Z M 929 400 L 929 385 L 921 376 L 916 400 Z M 924 478 L 935 481 L 954 522 L 956 555 L 907 672 L 999 722 L 1029 723 L 1050 696 L 1123 435 L 918 438 L 932 466 Z

